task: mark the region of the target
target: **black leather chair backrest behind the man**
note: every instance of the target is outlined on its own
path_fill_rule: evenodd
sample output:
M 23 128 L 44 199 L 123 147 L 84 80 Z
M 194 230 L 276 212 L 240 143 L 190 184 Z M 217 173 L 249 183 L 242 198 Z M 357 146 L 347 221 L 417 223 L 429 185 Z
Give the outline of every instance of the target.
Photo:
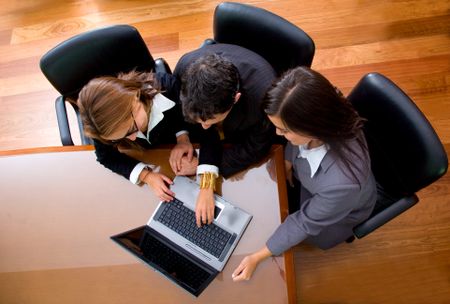
M 315 46 L 300 28 L 264 9 L 223 2 L 214 12 L 214 40 L 236 44 L 258 53 L 277 74 L 311 66 Z

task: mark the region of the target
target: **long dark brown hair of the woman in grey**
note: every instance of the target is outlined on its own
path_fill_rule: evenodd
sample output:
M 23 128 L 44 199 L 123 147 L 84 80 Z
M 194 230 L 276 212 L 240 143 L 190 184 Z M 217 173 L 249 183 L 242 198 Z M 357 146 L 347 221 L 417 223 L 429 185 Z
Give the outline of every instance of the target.
M 326 143 L 357 180 L 354 169 L 362 169 L 352 164 L 350 155 L 361 156 L 349 141 L 355 139 L 367 151 L 364 119 L 324 76 L 307 67 L 292 69 L 267 92 L 263 106 L 267 115 L 279 117 L 288 130 Z

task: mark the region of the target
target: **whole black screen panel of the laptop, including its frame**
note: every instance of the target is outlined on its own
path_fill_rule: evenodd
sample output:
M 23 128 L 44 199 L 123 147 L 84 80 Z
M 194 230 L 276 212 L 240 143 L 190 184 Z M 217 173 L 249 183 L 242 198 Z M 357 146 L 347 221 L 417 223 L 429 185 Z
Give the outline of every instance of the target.
M 217 271 L 195 258 L 181 254 L 176 245 L 148 226 L 113 236 L 112 239 L 138 258 L 195 296 L 217 275 Z

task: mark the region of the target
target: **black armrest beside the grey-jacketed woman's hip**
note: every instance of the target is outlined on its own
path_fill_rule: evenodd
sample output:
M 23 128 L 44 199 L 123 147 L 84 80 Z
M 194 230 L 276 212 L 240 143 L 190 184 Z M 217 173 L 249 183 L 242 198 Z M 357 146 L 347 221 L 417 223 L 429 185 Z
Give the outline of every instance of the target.
M 375 215 L 371 215 L 366 221 L 362 222 L 358 226 L 353 228 L 353 233 L 360 239 L 372 231 L 378 229 L 382 225 L 386 224 L 399 214 L 405 212 L 419 201 L 417 195 L 403 197 L 400 200 L 394 202 L 389 207 L 383 209 Z

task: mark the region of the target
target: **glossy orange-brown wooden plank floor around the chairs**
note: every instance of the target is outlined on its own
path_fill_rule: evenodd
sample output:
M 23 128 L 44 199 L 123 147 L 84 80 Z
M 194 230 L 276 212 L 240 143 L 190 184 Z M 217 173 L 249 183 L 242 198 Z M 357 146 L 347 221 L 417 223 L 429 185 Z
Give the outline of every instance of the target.
M 212 36 L 219 3 L 1 2 L 0 150 L 60 145 L 57 93 L 38 66 L 51 47 L 98 26 L 128 23 L 138 28 L 152 54 L 173 68 L 183 53 Z M 448 0 L 246 3 L 305 30 L 316 43 L 313 68 L 344 93 L 367 72 L 390 77 L 415 100 L 450 151 Z M 327 252 L 298 246 L 298 302 L 450 303 L 450 177 L 419 197 L 417 206 L 362 240 Z

